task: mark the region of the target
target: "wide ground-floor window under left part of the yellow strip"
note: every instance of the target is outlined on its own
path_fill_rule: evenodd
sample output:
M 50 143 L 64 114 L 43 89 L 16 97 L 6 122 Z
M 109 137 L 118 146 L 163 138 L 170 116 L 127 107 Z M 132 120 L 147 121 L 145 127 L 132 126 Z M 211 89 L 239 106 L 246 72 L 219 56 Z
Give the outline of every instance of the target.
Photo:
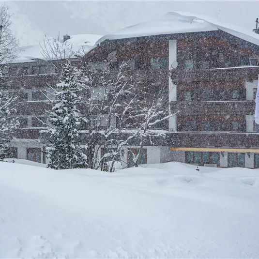
M 219 152 L 185 152 L 187 164 L 215 164 L 219 166 Z

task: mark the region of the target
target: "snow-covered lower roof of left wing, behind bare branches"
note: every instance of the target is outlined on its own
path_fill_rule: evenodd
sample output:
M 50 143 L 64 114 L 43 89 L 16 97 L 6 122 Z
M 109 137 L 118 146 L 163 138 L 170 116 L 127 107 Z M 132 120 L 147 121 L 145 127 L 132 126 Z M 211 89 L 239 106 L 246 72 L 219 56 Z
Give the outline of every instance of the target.
M 77 34 L 70 36 L 70 39 L 68 39 L 65 43 L 59 44 L 64 47 L 72 44 L 74 52 L 77 52 L 82 47 L 84 48 L 84 52 L 88 52 L 101 37 L 102 35 L 96 34 Z M 44 60 L 41 46 L 44 46 L 44 42 L 34 45 L 21 46 L 19 57 L 14 62 L 34 62 L 34 59 Z

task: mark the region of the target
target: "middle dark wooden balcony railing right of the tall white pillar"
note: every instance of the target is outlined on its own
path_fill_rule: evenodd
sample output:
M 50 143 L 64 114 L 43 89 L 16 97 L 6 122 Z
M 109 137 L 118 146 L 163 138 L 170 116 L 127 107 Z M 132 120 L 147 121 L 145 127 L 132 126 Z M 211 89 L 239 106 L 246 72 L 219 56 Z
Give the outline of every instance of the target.
M 171 102 L 170 107 L 172 113 L 180 111 L 181 115 L 255 113 L 255 101 Z

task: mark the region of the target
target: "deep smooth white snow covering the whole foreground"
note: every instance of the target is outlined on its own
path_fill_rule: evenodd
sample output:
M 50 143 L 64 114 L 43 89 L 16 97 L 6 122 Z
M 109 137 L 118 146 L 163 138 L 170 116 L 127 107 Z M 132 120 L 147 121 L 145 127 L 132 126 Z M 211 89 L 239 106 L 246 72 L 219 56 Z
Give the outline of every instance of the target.
M 259 170 L 0 162 L 0 258 L 259 258 Z

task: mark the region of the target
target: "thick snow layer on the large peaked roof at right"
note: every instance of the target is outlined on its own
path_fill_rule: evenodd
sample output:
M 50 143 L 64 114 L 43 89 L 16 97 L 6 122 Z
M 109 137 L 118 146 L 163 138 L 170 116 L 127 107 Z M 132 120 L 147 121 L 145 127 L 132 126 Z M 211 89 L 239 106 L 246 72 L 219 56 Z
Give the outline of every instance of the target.
M 118 30 L 99 39 L 96 44 L 106 39 L 123 39 L 160 34 L 223 30 L 245 41 L 259 45 L 259 34 L 242 27 L 221 23 L 205 15 L 195 15 L 187 12 L 170 12 L 150 22 L 139 23 Z

